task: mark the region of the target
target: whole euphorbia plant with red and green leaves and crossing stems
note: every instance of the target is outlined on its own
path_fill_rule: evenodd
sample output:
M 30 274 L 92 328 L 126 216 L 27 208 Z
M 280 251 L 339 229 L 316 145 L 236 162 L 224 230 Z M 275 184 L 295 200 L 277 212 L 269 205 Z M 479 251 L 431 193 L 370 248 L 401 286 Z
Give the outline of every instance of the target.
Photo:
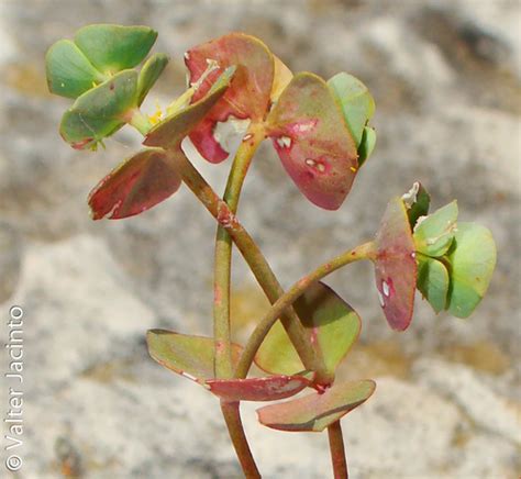
M 375 265 L 376 289 L 393 330 L 406 330 L 419 289 L 437 313 L 466 318 L 485 294 L 496 261 L 490 232 L 456 223 L 456 203 L 429 214 L 423 186 L 389 201 L 373 241 L 350 248 L 286 292 L 235 215 L 258 145 L 269 138 L 286 171 L 315 205 L 336 210 L 376 142 L 368 125 L 375 103 L 367 88 L 341 73 L 325 81 L 292 73 L 257 38 L 231 33 L 188 51 L 189 88 L 164 112 L 140 105 L 164 70 L 164 54 L 148 55 L 156 32 L 145 26 L 90 25 L 47 53 L 52 92 L 75 99 L 60 134 L 73 147 L 96 149 L 125 124 L 143 134 L 144 149 L 100 181 L 89 197 L 92 218 L 124 219 L 162 202 L 185 182 L 218 222 L 213 337 L 165 330 L 147 333 L 151 356 L 200 383 L 221 403 L 246 477 L 259 477 L 240 416 L 241 401 L 279 401 L 258 410 L 259 422 L 282 431 L 328 430 L 334 476 L 347 477 L 341 417 L 366 401 L 375 382 L 335 381 L 335 370 L 358 338 L 361 318 L 321 280 L 351 263 Z M 228 151 L 223 124 L 241 135 Z M 234 153 L 220 198 L 185 156 L 189 137 L 209 161 Z M 230 324 L 231 254 L 235 243 L 271 302 L 245 345 Z M 253 363 L 266 376 L 248 376 Z

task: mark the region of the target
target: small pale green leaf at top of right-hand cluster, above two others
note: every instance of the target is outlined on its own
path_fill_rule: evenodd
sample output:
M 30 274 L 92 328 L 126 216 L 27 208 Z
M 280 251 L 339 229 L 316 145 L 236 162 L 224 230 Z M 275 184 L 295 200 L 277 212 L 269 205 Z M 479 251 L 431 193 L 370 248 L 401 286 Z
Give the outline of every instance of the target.
M 453 201 L 417 223 L 414 244 L 417 250 L 432 257 L 443 256 L 454 238 L 457 202 Z

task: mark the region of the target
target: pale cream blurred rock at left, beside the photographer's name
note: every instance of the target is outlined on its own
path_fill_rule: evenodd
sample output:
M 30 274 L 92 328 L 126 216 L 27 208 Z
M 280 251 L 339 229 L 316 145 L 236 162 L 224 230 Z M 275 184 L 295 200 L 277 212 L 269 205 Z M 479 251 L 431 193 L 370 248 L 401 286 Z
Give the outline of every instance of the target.
M 132 356 L 143 343 L 155 315 L 122 280 L 99 239 L 27 248 L 11 299 L 24 311 L 27 394 L 48 394 L 96 365 Z

